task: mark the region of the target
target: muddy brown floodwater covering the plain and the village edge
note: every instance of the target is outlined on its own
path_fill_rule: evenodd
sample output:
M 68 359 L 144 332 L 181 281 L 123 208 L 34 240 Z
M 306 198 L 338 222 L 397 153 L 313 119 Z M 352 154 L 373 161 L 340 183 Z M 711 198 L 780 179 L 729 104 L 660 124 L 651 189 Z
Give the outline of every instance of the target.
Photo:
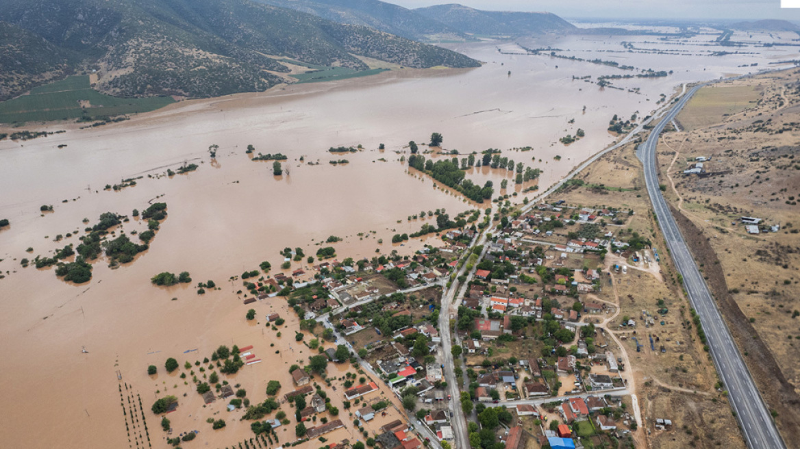
M 606 127 L 615 113 L 630 117 L 638 111 L 641 117 L 657 107 L 659 94 L 669 96 L 682 82 L 747 73 L 770 61 L 796 58 L 798 51 L 789 46 L 750 46 L 738 51 L 753 54 L 710 56 L 702 52 L 719 47 L 706 46 L 714 40 L 708 34 L 680 48 L 695 53 L 626 53 L 622 40 L 637 39 L 642 47 L 673 45 L 647 44 L 657 39 L 651 36 L 547 38 L 526 45 L 558 47 L 579 58 L 624 58 L 625 64 L 639 68 L 674 70 L 670 77 L 614 81 L 626 89 L 638 87 L 639 93 L 599 89 L 572 78 L 622 73 L 613 67 L 498 53 L 498 46 L 518 52 L 514 43 L 458 44 L 451 47 L 486 64 L 474 70 L 402 70 L 185 101 L 120 124 L 94 129 L 48 125 L 47 129 L 69 130 L 34 141 L 0 141 L 0 218 L 11 221 L 10 228 L 0 231 L 0 270 L 6 275 L 0 280 L 3 446 L 126 447 L 129 437 L 118 403 L 118 372 L 122 382 L 132 386 L 130 391 L 142 396 L 153 447 L 166 443 L 150 404 L 156 396 L 173 392 L 181 403 L 170 414 L 176 431 L 196 428 L 201 431 L 198 441 L 210 447 L 250 438 L 249 423 L 236 421 L 240 412 L 227 415 L 222 401 L 203 408 L 178 374 L 166 375 L 164 360 L 174 356 L 182 365 L 202 360 L 219 344 L 254 344 L 264 363 L 245 368 L 231 383 L 242 383 L 252 400 L 260 401 L 266 381 L 277 370 L 286 389 L 290 381 L 284 368 L 293 357 L 306 356 L 294 354 L 292 348 L 307 351 L 292 338 L 296 319 L 281 300 L 274 299 L 256 308 L 260 319 L 270 307 L 282 309 L 290 324 L 282 338 L 248 324 L 244 315 L 250 306 L 242 305 L 236 294 L 241 281 L 229 278 L 257 269 L 262 260 L 278 268 L 282 262 L 278 252 L 285 247 L 302 247 L 306 255 L 313 255 L 315 244 L 331 235 L 344 238 L 334 244 L 339 260 L 371 257 L 376 249 L 408 254 L 422 244 L 438 244 L 434 236 L 412 239 L 405 246 L 389 242 L 394 233 L 414 232 L 423 223 L 434 222 L 433 217 L 408 221 L 410 215 L 443 208 L 453 217 L 476 205 L 457 194 L 434 190 L 430 179 L 409 173 L 396 153 L 405 152 L 407 158 L 403 147 L 408 141 L 422 143 L 438 132 L 444 136 L 445 149 L 461 153 L 502 149 L 504 156 L 542 169 L 538 183 L 546 189 L 614 141 Z M 759 66 L 738 67 L 754 62 Z M 586 131 L 586 137 L 569 146 L 558 143 L 558 138 L 578 128 Z M 383 152 L 377 149 L 380 143 L 386 144 Z M 60 144 L 67 146 L 58 149 Z M 213 163 L 206 151 L 212 144 L 220 147 Z M 288 155 L 285 168 L 290 173 L 274 177 L 271 162 L 250 161 L 245 154 L 249 144 L 257 153 Z M 358 144 L 364 151 L 343 155 L 326 151 L 330 146 Z M 533 149 L 506 152 L 524 146 Z M 305 163 L 299 161 L 301 156 Z M 342 158 L 350 164 L 328 163 Z M 147 177 L 164 173 L 167 167 L 176 169 L 183 161 L 198 163 L 198 170 L 172 178 Z M 309 161 L 320 165 L 307 165 Z M 106 184 L 137 176 L 144 177 L 135 187 L 102 190 Z M 509 173 L 480 168 L 470 169 L 467 177 L 481 183 L 492 180 L 497 191 Z M 515 189 L 522 187 L 510 181 L 508 193 Z M 20 267 L 23 257 L 33 259 L 64 244 L 77 244 L 75 236 L 53 240 L 85 228 L 84 217 L 94 224 L 100 213 L 130 214 L 132 209 L 146 209 L 157 197 L 167 203 L 169 216 L 150 249 L 133 264 L 111 270 L 100 260 L 94 263 L 92 280 L 77 286 L 58 280 L 52 269 Z M 55 211 L 42 216 L 40 205 L 54 205 Z M 115 231 L 143 229 L 144 223 L 131 220 Z M 379 239 L 384 243 L 378 244 Z M 29 247 L 33 252 L 26 252 Z M 307 265 L 304 260 L 294 263 L 293 269 Z M 150 277 L 162 271 L 188 271 L 193 285 L 211 279 L 220 289 L 198 296 L 187 284 L 155 288 Z M 270 344 L 281 354 L 273 354 Z M 83 354 L 82 348 L 89 353 Z M 198 352 L 183 354 L 194 348 Z M 159 367 L 154 379 L 146 375 L 149 364 Z M 290 409 L 287 414 L 291 415 Z M 205 422 L 210 416 L 225 417 L 228 427 L 212 431 Z M 330 441 L 352 431 L 352 419 L 340 417 L 350 427 L 337 431 Z M 293 439 L 294 423 L 286 428 L 286 434 L 280 434 L 282 443 Z M 130 447 L 137 447 L 133 437 L 131 441 Z M 205 443 L 186 446 L 193 444 Z

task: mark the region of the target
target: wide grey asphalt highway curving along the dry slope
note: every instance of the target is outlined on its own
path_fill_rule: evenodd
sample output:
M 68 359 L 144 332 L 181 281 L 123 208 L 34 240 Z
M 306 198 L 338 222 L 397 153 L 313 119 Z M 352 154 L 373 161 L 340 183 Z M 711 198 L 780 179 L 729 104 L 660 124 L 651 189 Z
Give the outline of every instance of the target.
M 710 347 L 711 356 L 714 358 L 717 372 L 728 391 L 728 399 L 736 411 L 739 425 L 742 428 L 747 446 L 753 449 L 784 449 L 778 429 L 772 422 L 766 404 L 758 394 L 750 372 L 742 360 L 741 354 L 730 335 L 725 322 L 722 320 L 714 298 L 698 270 L 694 258 L 683 240 L 678 224 L 667 207 L 664 197 L 658 188 L 658 175 L 656 173 L 655 151 L 658 137 L 664 126 L 670 123 L 686 105 L 686 101 L 702 87 L 698 85 L 679 101 L 675 103 L 670 112 L 656 125 L 650 137 L 637 149 L 637 156 L 642 161 L 645 169 L 645 183 L 650 201 L 658 217 L 658 225 L 664 233 L 666 244 L 670 248 L 670 256 L 675 261 L 678 272 L 683 276 L 683 284 L 695 311 L 700 316 L 702 328 L 706 332 L 706 339 Z

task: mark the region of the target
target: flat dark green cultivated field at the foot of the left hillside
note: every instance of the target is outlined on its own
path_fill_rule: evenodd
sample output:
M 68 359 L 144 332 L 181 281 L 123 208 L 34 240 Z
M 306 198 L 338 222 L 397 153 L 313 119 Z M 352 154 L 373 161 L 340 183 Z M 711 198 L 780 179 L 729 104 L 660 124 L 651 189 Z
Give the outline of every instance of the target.
M 90 107 L 81 107 L 78 101 L 89 101 Z M 31 89 L 28 95 L 0 102 L 0 123 L 113 117 L 148 112 L 170 103 L 174 103 L 172 97 L 111 97 L 92 89 L 88 76 L 73 76 Z

